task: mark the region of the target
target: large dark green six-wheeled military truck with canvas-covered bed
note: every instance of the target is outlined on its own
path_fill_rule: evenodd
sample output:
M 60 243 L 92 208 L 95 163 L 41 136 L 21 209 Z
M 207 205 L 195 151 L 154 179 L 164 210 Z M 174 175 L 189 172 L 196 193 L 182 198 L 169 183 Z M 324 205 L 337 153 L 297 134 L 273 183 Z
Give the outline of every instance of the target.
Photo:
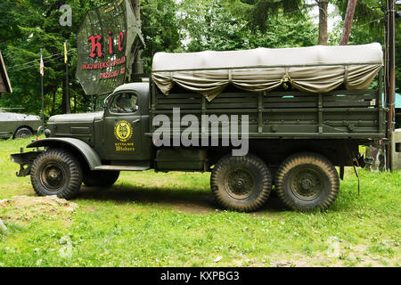
M 274 185 L 286 207 L 310 211 L 330 207 L 344 167 L 364 165 L 359 145 L 385 137 L 379 44 L 156 53 L 152 69 L 104 110 L 50 118 L 36 150 L 11 155 L 17 175 L 71 199 L 120 171 L 211 172 L 222 208 L 255 211 Z

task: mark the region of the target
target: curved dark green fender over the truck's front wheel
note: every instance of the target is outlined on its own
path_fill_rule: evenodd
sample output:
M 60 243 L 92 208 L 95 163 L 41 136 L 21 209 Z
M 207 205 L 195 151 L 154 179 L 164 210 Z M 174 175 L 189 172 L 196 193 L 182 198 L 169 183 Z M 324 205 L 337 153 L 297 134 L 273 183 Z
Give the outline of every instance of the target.
M 54 137 L 41 139 L 29 143 L 29 145 L 27 145 L 27 148 L 37 148 L 45 146 L 62 147 L 63 144 L 77 150 L 82 155 L 82 157 L 86 159 L 86 163 L 91 170 L 94 170 L 95 167 L 102 166 L 102 161 L 97 152 L 94 151 L 94 149 L 86 142 L 82 142 L 81 140 L 74 138 Z

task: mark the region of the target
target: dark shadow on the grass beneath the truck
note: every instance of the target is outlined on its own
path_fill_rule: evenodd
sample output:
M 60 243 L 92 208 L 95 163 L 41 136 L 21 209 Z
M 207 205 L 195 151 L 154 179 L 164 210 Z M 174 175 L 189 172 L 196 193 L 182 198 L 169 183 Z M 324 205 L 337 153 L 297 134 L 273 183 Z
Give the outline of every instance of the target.
M 282 212 L 282 203 L 277 197 L 272 196 L 262 208 L 252 214 Z M 104 188 L 82 185 L 78 199 L 114 201 L 121 204 L 127 202 L 143 205 L 156 204 L 156 206 L 171 207 L 174 211 L 189 214 L 208 214 L 217 209 L 224 210 L 217 205 L 211 192 L 201 189 L 143 188 L 134 185 L 115 185 Z

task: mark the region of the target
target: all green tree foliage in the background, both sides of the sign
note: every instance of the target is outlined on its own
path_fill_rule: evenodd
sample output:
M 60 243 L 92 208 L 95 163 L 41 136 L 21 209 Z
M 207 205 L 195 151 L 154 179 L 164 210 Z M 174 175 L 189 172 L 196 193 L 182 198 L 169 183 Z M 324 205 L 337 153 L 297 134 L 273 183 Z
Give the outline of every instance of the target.
M 85 13 L 107 0 L 70 0 L 72 27 L 61 27 L 61 0 L 3 0 L 0 3 L 0 50 L 13 87 L 3 94 L 0 107 L 22 107 L 22 112 L 41 110 L 39 52 L 45 61 L 45 117 L 62 112 L 65 90 L 63 43 L 70 45 L 71 110 L 89 110 L 86 96 L 75 78 L 76 33 Z M 347 0 L 331 0 L 341 17 Z M 152 55 L 157 52 L 197 52 L 257 47 L 316 45 L 317 25 L 308 11 L 315 2 L 305 0 L 141 0 L 141 20 L 145 49 L 145 72 L 151 71 Z M 350 45 L 383 44 L 384 0 L 358 0 Z M 397 35 L 400 20 L 397 19 Z M 329 38 L 340 43 L 342 22 Z M 399 37 L 397 37 L 397 84 L 401 85 Z M 75 98 L 75 100 L 74 100 Z M 74 103 L 76 101 L 76 103 Z

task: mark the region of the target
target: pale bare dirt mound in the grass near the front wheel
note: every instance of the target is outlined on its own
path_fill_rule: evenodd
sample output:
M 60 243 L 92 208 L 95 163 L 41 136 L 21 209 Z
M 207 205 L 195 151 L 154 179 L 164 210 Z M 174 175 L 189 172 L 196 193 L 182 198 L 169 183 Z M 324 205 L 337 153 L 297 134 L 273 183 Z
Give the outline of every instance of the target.
M 0 200 L 0 218 L 6 222 L 27 222 L 33 218 L 69 220 L 76 203 L 57 196 L 15 196 Z

